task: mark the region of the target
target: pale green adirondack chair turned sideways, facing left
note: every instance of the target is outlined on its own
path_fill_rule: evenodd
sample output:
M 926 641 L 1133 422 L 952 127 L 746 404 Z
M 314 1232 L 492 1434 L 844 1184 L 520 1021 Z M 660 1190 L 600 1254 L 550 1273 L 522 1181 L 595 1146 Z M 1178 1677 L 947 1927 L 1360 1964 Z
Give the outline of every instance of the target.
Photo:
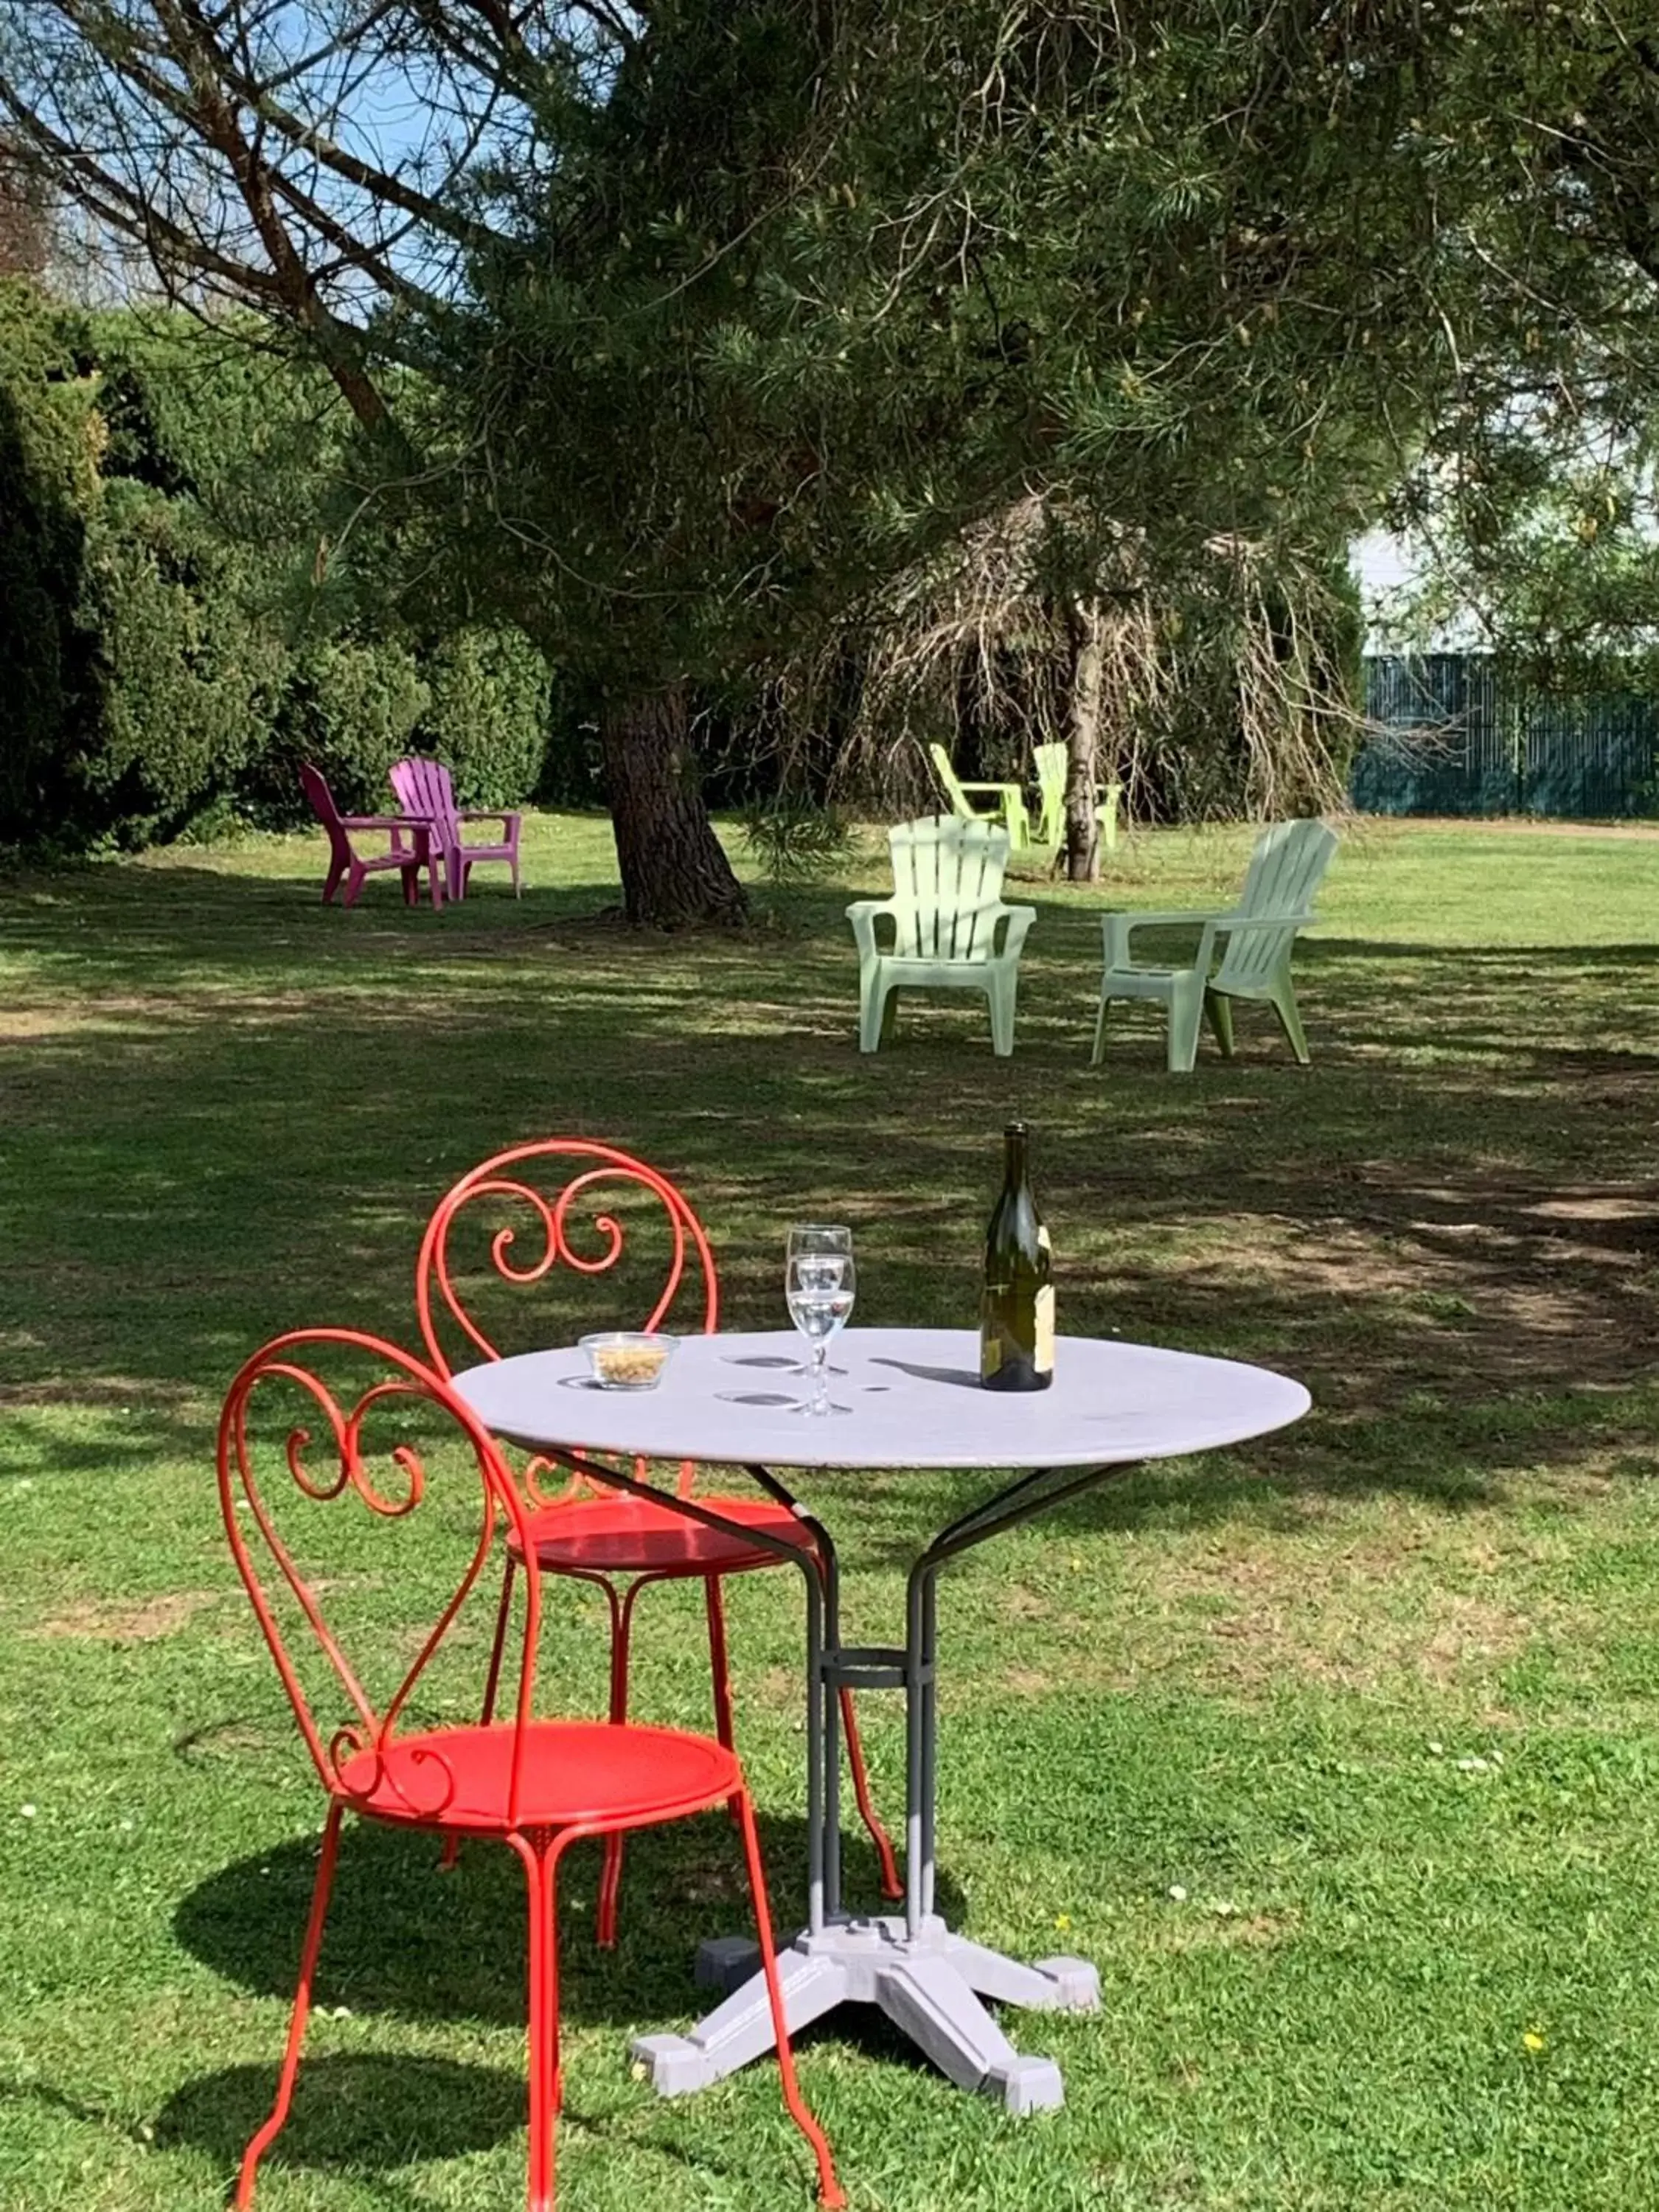
M 1325 823 L 1274 823 L 1256 838 L 1239 905 L 1228 914 L 1106 914 L 1106 973 L 1095 1020 L 1097 1064 L 1106 1046 L 1106 1006 L 1115 998 L 1150 998 L 1168 1006 L 1170 1073 L 1190 1075 L 1199 1053 L 1199 1022 L 1210 1015 L 1217 1044 L 1232 1053 L 1232 1000 L 1265 1000 L 1279 1015 L 1290 1048 L 1307 1066 L 1307 1035 L 1290 987 L 1296 931 L 1314 920 L 1314 891 L 1336 852 Z M 1130 938 L 1139 929 L 1197 927 L 1190 967 L 1137 967 Z M 1221 958 L 1217 960 L 1217 949 Z

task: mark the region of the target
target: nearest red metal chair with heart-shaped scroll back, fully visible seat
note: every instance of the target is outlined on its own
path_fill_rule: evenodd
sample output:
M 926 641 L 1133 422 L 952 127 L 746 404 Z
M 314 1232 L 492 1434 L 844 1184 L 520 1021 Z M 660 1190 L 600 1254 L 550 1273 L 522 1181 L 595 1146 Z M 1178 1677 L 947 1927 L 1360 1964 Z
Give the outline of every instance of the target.
M 316 1365 L 321 1363 L 332 1376 L 338 1367 L 361 1363 L 363 1354 L 372 1360 L 372 1380 L 354 1398 L 336 1396 Z M 263 1447 L 250 1436 L 254 1400 L 261 1411 L 270 1407 L 272 1416 L 274 1433 Z M 458 1433 L 438 1438 L 436 1449 L 429 1449 L 434 1416 L 436 1427 L 453 1425 Z M 259 1433 L 265 1433 L 263 1425 Z M 434 1509 L 414 1535 L 407 1524 L 429 1495 L 436 1500 Z M 219 1504 L 237 1568 L 327 1792 L 327 1820 L 276 2101 L 243 2152 L 237 2205 L 252 2205 L 259 2159 L 288 2119 L 341 1820 L 347 1812 L 442 1836 L 495 1836 L 524 1865 L 529 2208 L 551 2212 L 553 2132 L 562 2101 L 555 1911 L 560 1858 L 582 1836 L 655 1827 L 719 1803 L 737 1807 L 743 1829 L 783 2099 L 812 2146 L 818 2201 L 845 2205 L 830 2146 L 794 2077 L 754 1807 L 737 1754 L 712 1736 L 688 1730 L 535 1719 L 535 1646 L 542 1608 L 535 1542 L 495 1444 L 453 1391 L 418 1360 L 356 1329 L 294 1329 L 279 1336 L 257 1352 L 230 1385 L 219 1420 Z M 341 1528 L 334 1517 L 330 1544 L 323 1548 L 325 1506 L 347 1511 L 358 1506 L 369 1520 Z M 343 1617 L 343 1593 L 365 1582 L 378 1588 L 380 1577 L 338 1575 L 336 1562 L 349 1557 L 356 1566 L 369 1533 L 374 1535 L 369 1548 L 376 1555 L 394 1548 L 394 1524 L 405 1524 L 398 1548 L 407 1562 L 396 1586 L 429 1582 L 442 1604 L 436 1626 L 407 1666 L 400 1655 L 387 1652 L 380 1628 L 378 1672 L 389 1692 L 376 1701 L 365 1688 L 365 1679 L 374 1679 L 376 1659 L 376 1652 L 367 1650 L 369 1637 L 365 1635 L 361 1644 L 354 1639 L 358 1657 L 367 1661 L 358 1672 L 334 1630 Z M 445 1655 L 445 1644 L 491 1559 L 500 1526 L 507 1528 L 524 1575 L 524 1650 L 518 1661 L 511 1719 L 405 1728 L 416 1699 L 431 1701 L 436 1694 L 434 1666 L 440 1655 L 451 1663 L 458 1655 L 465 1657 L 460 1646 L 451 1646 Z M 307 1553 L 330 1559 L 334 1573 L 327 1579 L 307 1579 L 299 1564 L 301 1540 L 310 1540 L 303 1546 Z M 409 1575 L 409 1566 L 416 1575 Z M 330 1615 L 323 1610 L 323 1595 L 330 1597 Z M 305 1677 L 312 1679 L 316 1697 L 307 1694 Z

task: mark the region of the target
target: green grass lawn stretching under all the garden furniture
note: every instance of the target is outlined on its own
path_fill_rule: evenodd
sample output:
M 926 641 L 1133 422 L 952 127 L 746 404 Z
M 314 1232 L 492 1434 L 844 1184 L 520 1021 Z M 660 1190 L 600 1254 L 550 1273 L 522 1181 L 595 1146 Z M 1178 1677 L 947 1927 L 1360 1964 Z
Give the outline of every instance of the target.
M 847 896 L 628 940 L 608 830 L 526 823 L 515 905 L 316 902 L 292 838 L 24 876 L 0 902 L 0 2208 L 208 2212 L 263 2115 L 321 1792 L 217 1524 L 212 1420 L 259 1340 L 414 1340 L 473 1159 L 549 1130 L 677 1175 L 732 1325 L 783 1325 L 790 1219 L 849 1219 L 858 1318 L 969 1323 L 1000 1126 L 1035 1126 L 1060 1325 L 1298 1374 L 1316 1411 L 973 1553 L 942 1595 L 947 1909 L 1097 1960 L 1015 2015 L 1064 2112 L 1011 2121 L 878 2022 L 803 2039 L 856 2208 L 1630 2212 L 1659 2161 L 1659 843 L 1367 825 L 1267 1015 L 1088 1066 L 1106 902 L 1190 905 L 1248 836 L 1137 841 L 1040 905 L 1020 1035 L 905 1013 L 854 1051 Z M 602 1303 L 602 1292 L 595 1294 Z M 597 1318 L 597 1316 L 595 1316 Z M 557 1334 L 549 1327 L 544 1334 Z M 969 1478 L 838 1517 L 849 1626 Z M 380 1593 L 392 1632 L 411 1624 Z M 801 1893 L 799 1588 L 732 1593 L 739 1728 Z M 403 1610 L 400 1610 L 403 1608 Z M 599 1697 L 597 1610 L 549 1674 Z M 706 1725 L 695 1604 L 639 1613 L 639 1710 Z M 898 1812 L 900 1714 L 865 1701 Z M 854 1893 L 869 1854 L 849 1832 Z M 347 1838 L 270 2212 L 522 2203 L 522 1878 Z M 807 2203 L 776 2075 L 630 2079 L 741 1927 L 721 1818 L 633 1847 L 622 1944 L 566 1880 L 562 2203 Z M 1646 2179 L 1644 2179 L 1646 2177 Z

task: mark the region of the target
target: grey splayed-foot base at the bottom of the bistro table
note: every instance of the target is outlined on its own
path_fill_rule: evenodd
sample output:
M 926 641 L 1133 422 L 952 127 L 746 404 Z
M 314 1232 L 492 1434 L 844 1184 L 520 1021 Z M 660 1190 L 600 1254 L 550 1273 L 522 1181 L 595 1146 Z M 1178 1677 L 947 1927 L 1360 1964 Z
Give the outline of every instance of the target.
M 772 2048 L 772 2011 L 757 1949 L 743 1938 L 706 1942 L 697 1980 L 730 1989 L 690 2035 L 641 2035 L 633 2053 L 659 2097 L 684 2097 L 748 2066 Z M 936 1916 L 916 1936 L 902 1916 L 834 1920 L 821 1936 L 796 1936 L 779 1951 L 779 1982 L 790 2035 L 836 2004 L 876 2004 L 958 2088 L 1000 2097 L 1011 2112 L 1064 2104 L 1053 2059 L 1024 2057 L 995 2024 L 982 1997 L 1046 2013 L 1099 2011 L 1099 1975 L 1082 1958 L 1044 1958 L 1035 1966 L 951 1936 Z

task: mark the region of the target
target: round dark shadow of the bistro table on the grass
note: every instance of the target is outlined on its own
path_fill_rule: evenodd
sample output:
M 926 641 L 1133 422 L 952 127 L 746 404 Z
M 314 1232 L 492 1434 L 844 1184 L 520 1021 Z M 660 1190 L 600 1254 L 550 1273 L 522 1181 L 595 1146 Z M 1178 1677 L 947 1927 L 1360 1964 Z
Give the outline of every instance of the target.
M 334 1878 L 316 2004 L 407 2020 L 524 2020 L 524 1874 L 495 1843 L 471 1843 L 438 1871 L 440 1838 L 347 1823 Z M 805 1893 L 805 1825 L 761 1820 L 772 1920 L 783 1942 Z M 847 1902 L 876 1909 L 869 1854 L 847 1838 Z M 695 1982 L 706 1936 L 750 1933 L 743 1854 L 723 1814 L 628 1838 L 615 1951 L 593 1942 L 599 1845 L 573 1845 L 560 1874 L 560 2011 L 571 2022 L 661 2026 L 703 2013 Z M 316 1838 L 234 1860 L 175 1913 L 186 1951 L 259 1995 L 292 2000 L 316 1876 Z M 938 1909 L 960 1927 L 964 1900 L 940 1874 Z

